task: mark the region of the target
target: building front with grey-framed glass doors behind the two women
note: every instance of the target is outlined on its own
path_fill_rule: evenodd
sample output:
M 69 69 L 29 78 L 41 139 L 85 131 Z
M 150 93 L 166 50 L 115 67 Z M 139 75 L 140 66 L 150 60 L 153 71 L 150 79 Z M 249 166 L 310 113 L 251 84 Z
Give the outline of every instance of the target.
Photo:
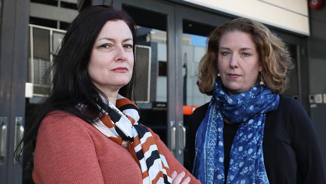
M 51 79 L 42 77 L 65 30 L 79 11 L 91 5 L 125 10 L 135 20 L 140 121 L 159 134 L 182 163 L 191 114 L 187 108 L 211 99 L 196 85 L 208 35 L 238 17 L 265 24 L 291 53 L 295 68 L 284 95 L 298 100 L 312 119 L 326 167 L 325 6 L 311 9 L 306 0 L 0 0 L 0 5 L 0 178 L 5 178 L 0 183 L 30 182 L 31 170 L 14 161 L 14 149 L 25 119 L 51 87 Z

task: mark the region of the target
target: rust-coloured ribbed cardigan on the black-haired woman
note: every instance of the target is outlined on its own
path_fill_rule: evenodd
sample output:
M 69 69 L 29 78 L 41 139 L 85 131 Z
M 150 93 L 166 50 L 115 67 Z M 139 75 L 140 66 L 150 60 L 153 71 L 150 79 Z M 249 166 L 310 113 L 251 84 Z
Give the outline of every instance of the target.
M 171 172 L 186 172 L 200 183 L 153 134 Z M 52 112 L 41 123 L 34 153 L 35 183 L 139 183 L 137 161 L 128 150 L 105 137 L 92 125 L 64 112 Z

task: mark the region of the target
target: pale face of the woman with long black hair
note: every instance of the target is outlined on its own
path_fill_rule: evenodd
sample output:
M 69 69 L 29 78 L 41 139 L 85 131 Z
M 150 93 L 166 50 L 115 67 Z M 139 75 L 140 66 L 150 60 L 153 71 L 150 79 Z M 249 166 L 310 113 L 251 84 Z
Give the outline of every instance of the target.
M 132 75 L 132 34 L 124 21 L 108 21 L 96 38 L 88 64 L 94 85 L 107 96 L 126 85 Z

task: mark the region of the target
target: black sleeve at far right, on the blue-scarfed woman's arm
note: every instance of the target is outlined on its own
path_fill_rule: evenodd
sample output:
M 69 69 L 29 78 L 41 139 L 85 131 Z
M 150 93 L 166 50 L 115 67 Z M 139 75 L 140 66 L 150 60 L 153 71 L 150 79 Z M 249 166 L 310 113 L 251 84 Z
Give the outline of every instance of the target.
M 325 183 L 322 159 L 312 122 L 303 107 L 291 100 L 288 114 L 291 145 L 297 161 L 297 179 L 302 183 Z

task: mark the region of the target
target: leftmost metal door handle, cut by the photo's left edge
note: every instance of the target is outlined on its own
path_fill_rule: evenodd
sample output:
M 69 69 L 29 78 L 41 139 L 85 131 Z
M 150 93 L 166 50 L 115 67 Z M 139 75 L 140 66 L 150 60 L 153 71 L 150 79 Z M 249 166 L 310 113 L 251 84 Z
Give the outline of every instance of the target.
M 1 126 L 1 141 L 0 141 L 0 164 L 4 164 L 7 153 L 7 131 L 8 131 L 8 117 L 0 117 Z

